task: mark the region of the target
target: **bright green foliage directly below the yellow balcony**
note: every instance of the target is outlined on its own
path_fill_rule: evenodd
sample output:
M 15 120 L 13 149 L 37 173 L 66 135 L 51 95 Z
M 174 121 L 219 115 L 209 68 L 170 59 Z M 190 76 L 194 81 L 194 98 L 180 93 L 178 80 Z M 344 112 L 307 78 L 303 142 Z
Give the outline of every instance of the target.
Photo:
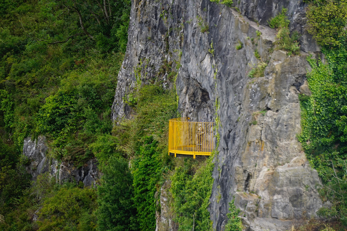
M 180 231 L 212 230 L 210 213 L 207 210 L 212 191 L 213 154 L 200 163 L 185 159 L 184 165 L 175 169 L 171 177 L 171 193 L 174 211 Z

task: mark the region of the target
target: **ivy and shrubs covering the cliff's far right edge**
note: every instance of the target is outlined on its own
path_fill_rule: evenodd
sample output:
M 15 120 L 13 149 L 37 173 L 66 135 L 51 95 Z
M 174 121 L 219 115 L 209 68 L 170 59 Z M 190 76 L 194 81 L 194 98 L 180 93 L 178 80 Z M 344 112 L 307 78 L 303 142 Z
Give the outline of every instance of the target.
M 311 96 L 299 97 L 302 133 L 298 136 L 324 186 L 323 201 L 332 203 L 319 215 L 336 217 L 347 226 L 347 9 L 345 1 L 313 1 L 307 11 L 309 31 L 322 45 L 326 62 L 307 60 Z

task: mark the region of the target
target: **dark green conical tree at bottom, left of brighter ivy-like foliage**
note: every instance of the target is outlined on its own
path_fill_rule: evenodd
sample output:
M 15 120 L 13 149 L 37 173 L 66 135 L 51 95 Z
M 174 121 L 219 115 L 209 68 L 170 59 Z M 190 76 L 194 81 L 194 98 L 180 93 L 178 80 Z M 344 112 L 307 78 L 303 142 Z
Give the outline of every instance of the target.
M 99 231 L 138 230 L 136 208 L 133 205 L 133 176 L 125 159 L 110 157 L 102 168 L 101 185 L 98 186 Z

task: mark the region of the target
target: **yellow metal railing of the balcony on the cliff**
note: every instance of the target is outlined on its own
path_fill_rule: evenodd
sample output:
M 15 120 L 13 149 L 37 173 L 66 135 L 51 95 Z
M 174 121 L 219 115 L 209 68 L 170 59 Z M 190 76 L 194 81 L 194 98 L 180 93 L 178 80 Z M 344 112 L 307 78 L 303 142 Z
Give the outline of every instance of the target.
M 189 122 L 189 117 L 169 120 L 169 156 L 210 156 L 214 149 L 213 124 Z

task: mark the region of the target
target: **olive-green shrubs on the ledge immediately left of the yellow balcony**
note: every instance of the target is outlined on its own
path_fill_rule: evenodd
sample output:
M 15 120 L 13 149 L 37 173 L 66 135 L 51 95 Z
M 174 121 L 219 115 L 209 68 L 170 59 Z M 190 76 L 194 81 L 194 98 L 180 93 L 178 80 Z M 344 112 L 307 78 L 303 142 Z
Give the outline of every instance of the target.
M 169 119 L 176 115 L 176 93 L 158 85 L 143 86 L 136 96 L 136 116 L 115 127 L 121 150 L 132 156 L 142 145 L 142 137 L 154 136 L 161 148 L 167 145 Z M 121 131 L 121 132 L 120 132 Z

